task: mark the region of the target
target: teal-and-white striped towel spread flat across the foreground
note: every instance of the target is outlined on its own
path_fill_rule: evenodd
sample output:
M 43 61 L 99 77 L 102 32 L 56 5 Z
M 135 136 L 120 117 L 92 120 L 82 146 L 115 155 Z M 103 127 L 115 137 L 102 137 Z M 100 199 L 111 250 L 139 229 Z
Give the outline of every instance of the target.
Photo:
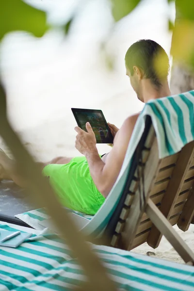
M 0 229 L 25 227 L 0 223 Z M 194 290 L 193 266 L 90 245 L 119 291 Z M 0 247 L 0 291 L 70 291 L 85 280 L 77 259 L 56 235 L 27 240 L 16 249 Z

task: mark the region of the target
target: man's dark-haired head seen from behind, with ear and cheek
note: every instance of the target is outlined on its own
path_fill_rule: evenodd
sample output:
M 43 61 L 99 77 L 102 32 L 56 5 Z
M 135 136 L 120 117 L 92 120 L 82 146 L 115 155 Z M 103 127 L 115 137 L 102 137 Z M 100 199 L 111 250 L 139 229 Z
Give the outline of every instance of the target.
M 167 81 L 168 56 L 153 40 L 142 39 L 130 46 L 125 56 L 125 65 L 131 86 L 141 101 L 144 101 L 141 96 L 143 80 L 149 80 L 156 90 L 160 90 L 162 83 Z

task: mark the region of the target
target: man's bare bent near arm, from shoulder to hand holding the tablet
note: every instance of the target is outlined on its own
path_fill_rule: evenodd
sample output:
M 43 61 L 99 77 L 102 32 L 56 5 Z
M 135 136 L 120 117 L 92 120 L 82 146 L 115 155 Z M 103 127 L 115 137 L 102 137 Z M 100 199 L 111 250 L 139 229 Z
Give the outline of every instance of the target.
M 88 133 L 76 130 L 81 134 L 81 138 L 77 135 L 76 147 L 85 155 L 91 177 L 104 197 L 108 196 L 119 175 L 138 116 L 139 114 L 135 114 L 125 120 L 114 138 L 114 146 L 107 156 L 106 163 L 100 159 L 96 143 L 93 144 L 95 135 L 93 136 L 91 126 L 86 126 Z

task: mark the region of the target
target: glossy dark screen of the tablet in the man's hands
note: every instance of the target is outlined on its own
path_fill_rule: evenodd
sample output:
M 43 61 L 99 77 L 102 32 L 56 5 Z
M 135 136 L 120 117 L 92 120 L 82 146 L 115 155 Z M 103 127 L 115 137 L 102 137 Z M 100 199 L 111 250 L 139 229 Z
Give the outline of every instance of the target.
M 110 140 L 112 135 L 108 130 L 101 113 L 76 112 L 76 115 L 80 121 L 81 129 L 87 131 L 85 124 L 87 121 L 90 123 L 98 143 L 106 143 L 106 141 Z

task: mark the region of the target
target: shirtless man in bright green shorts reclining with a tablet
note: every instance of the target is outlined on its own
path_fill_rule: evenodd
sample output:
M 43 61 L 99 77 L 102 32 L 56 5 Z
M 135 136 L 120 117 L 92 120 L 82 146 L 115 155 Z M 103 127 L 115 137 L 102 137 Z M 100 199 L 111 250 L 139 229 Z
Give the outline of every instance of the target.
M 160 66 L 157 65 L 159 58 L 162 59 Z M 125 64 L 131 86 L 142 102 L 170 95 L 167 81 L 169 60 L 159 44 L 152 40 L 134 43 L 126 53 Z M 87 122 L 87 132 L 75 128 L 75 146 L 84 157 L 58 157 L 41 163 L 43 175 L 49 178 L 62 204 L 87 214 L 97 212 L 119 175 L 138 116 L 139 113 L 129 116 L 119 130 L 109 124 L 114 136 L 113 148 L 102 157 L 97 151 L 95 134 Z M 11 165 L 13 161 L 2 152 L 0 163 L 12 179 L 23 186 Z

